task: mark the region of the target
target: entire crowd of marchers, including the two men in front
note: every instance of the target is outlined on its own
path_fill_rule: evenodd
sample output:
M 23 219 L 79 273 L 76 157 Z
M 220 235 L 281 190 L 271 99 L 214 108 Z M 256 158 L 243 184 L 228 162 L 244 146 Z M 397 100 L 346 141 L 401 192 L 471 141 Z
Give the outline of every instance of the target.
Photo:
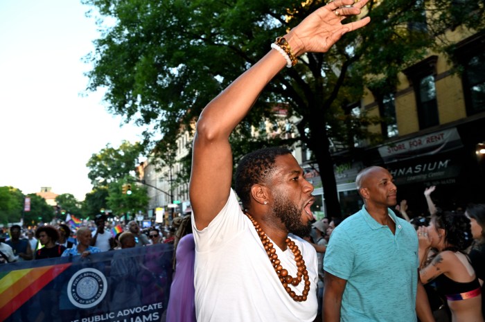
M 193 214 L 178 220 L 177 231 L 143 233 L 129 222 L 126 232 L 110 236 L 100 215 L 91 229 L 76 231 L 69 248 L 62 242 L 69 241 L 69 231 L 62 229 L 60 237 L 61 226 L 39 227 L 35 236 L 44 247 L 34 252 L 20 238 L 20 227 L 12 226 L 12 256 L 89 256 L 173 242 L 170 322 L 483 322 L 485 205 L 443 211 L 432 202 L 431 186 L 424 193 L 429 215 L 410 218 L 412 204 L 396 207 L 391 173 L 371 166 L 355 180 L 361 209 L 345 220 L 315 221 L 314 188 L 285 147 L 247 154 L 232 185 L 229 136 L 261 91 L 299 55 L 326 53 L 342 35 L 368 24 L 369 17 L 342 24 L 366 3 L 328 1 L 209 102 L 193 143 Z

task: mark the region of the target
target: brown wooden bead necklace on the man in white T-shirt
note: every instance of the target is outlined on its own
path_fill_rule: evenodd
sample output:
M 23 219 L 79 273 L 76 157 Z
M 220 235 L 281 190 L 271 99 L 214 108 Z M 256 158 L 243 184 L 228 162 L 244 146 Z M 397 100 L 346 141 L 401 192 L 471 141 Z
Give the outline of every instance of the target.
M 274 249 L 273 247 L 273 243 L 271 242 L 270 238 L 267 237 L 263 229 L 261 229 L 261 226 L 259 226 L 258 222 L 256 222 L 256 220 L 254 220 L 253 217 L 249 215 L 249 213 L 246 213 L 246 215 L 253 223 L 254 229 L 256 229 L 256 232 L 258 233 L 258 236 L 263 243 L 263 247 L 265 248 L 267 257 L 270 258 L 271 264 L 274 267 L 274 271 L 276 271 L 276 274 L 278 275 L 281 284 L 285 288 L 285 291 L 288 293 L 288 295 L 290 295 L 293 301 L 306 301 L 308 292 L 310 292 L 310 280 L 308 278 L 308 271 L 305 266 L 305 260 L 303 260 L 303 256 L 301 256 L 301 251 L 298 249 L 298 246 L 294 244 L 294 241 L 290 240 L 290 238 L 286 238 L 286 245 L 293 252 L 294 260 L 297 262 L 298 267 L 297 277 L 293 277 L 290 276 L 288 274 L 288 271 L 286 269 L 283 269 L 283 267 L 280 265 L 281 261 L 278 259 L 278 255 L 276 254 L 276 249 Z M 289 284 L 293 286 L 298 286 L 301 280 L 305 281 L 305 287 L 303 288 L 303 292 L 301 292 L 302 294 L 297 295 L 294 291 L 292 291 Z

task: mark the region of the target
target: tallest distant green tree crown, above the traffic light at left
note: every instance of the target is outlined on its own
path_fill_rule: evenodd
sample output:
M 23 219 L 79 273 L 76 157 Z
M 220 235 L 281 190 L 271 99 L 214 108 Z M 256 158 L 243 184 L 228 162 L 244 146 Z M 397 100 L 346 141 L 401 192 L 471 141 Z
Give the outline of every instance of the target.
M 139 156 L 143 153 L 143 144 L 123 141 L 118 148 L 107 144 L 96 154 L 92 154 L 86 166 L 89 168 L 87 177 L 91 184 L 107 186 L 114 181 L 130 175 L 138 164 Z

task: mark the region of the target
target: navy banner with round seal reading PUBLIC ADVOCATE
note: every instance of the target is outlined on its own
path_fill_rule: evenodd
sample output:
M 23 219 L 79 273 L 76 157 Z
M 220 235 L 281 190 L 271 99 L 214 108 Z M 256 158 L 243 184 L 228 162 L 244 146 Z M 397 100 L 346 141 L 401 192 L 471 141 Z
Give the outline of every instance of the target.
M 160 321 L 172 244 L 0 265 L 0 321 Z

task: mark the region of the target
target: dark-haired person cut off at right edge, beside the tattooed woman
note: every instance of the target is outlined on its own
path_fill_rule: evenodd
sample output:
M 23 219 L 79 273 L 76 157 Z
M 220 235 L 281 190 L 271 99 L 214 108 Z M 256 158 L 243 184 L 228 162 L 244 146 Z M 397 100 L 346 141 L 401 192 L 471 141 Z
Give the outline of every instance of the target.
M 485 204 L 470 204 L 466 208 L 466 217 L 470 220 L 472 226 L 473 245 L 468 253 L 473 269 L 477 278 L 482 285 L 482 294 L 484 293 L 485 280 Z M 485 319 L 485 296 L 482 296 L 482 315 Z

